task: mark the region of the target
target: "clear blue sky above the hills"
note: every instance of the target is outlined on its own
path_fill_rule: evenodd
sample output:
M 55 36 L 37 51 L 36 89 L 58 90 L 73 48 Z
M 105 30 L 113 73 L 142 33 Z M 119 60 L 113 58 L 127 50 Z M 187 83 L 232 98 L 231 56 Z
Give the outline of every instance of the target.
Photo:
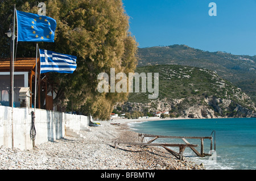
M 210 2 L 217 16 L 209 16 Z M 185 44 L 256 55 L 256 0 L 123 0 L 140 48 Z

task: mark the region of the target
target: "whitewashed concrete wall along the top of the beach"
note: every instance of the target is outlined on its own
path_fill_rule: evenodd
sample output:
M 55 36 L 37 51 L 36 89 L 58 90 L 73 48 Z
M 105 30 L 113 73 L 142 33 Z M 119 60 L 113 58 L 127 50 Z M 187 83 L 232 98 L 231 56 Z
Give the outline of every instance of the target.
M 13 141 L 11 124 L 11 107 L 0 106 L 0 146 L 32 149 L 30 138 L 31 111 L 34 108 L 14 108 Z M 88 126 L 89 118 L 82 115 L 71 115 L 63 112 L 35 110 L 35 145 L 55 141 L 65 136 L 65 127 L 80 131 Z

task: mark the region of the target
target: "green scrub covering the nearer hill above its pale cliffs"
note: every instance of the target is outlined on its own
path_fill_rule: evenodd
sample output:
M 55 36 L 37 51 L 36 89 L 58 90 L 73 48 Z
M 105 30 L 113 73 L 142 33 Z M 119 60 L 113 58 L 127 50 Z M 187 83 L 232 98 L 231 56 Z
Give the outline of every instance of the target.
M 195 105 L 205 105 L 214 110 L 214 107 L 209 106 L 204 101 L 207 98 L 232 100 L 232 103 L 229 104 L 230 109 L 226 110 L 225 113 L 232 110 L 229 113 L 234 114 L 234 108 L 237 105 L 254 110 L 254 103 L 241 89 L 208 69 L 182 65 L 155 65 L 139 67 L 135 71 L 138 73 L 159 73 L 158 101 L 163 99 L 183 100 L 176 107 L 172 107 L 171 112 L 176 112 L 176 114 Z M 155 100 L 148 99 L 148 93 L 130 93 L 128 101 L 131 103 L 151 103 L 151 107 L 155 111 L 159 111 Z

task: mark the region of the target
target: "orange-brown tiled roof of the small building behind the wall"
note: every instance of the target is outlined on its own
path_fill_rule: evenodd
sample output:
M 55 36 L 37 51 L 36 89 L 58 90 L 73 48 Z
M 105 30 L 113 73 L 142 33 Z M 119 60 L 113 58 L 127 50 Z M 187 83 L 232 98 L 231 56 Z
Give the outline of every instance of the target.
M 14 60 L 14 71 L 30 71 L 35 68 L 35 59 L 31 58 L 16 58 Z M 39 58 L 38 58 L 39 61 Z M 0 59 L 0 71 L 10 71 L 10 58 Z

